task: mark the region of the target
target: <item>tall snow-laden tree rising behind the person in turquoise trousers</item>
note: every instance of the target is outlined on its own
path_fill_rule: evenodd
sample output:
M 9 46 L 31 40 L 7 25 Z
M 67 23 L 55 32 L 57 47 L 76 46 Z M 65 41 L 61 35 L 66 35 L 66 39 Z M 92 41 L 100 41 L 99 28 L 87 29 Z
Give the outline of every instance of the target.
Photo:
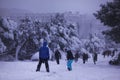
M 77 34 L 77 24 L 67 22 L 64 18 L 64 14 L 56 14 L 52 17 L 50 22 L 50 44 L 60 46 L 63 50 L 65 47 L 69 47 L 73 50 L 80 47 L 80 40 Z M 53 47 L 53 46 L 52 46 Z

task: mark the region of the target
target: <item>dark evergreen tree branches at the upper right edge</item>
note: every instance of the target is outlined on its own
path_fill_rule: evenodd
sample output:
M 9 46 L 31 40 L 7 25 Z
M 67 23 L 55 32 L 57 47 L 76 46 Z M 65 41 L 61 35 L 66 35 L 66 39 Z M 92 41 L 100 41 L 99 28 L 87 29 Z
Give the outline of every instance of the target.
M 103 34 L 110 37 L 116 43 L 120 43 L 120 0 L 113 0 L 101 5 L 101 9 L 95 13 L 104 25 L 110 27 Z

